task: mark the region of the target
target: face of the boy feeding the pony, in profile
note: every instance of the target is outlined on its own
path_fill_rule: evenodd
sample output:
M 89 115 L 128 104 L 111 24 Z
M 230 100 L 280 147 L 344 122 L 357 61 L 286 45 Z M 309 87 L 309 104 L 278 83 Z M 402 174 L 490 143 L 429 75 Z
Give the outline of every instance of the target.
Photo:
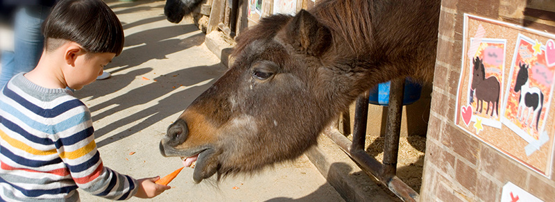
M 78 57 L 73 76 L 66 78 L 67 86 L 80 90 L 83 86 L 93 83 L 96 77 L 102 74 L 104 66 L 108 65 L 115 56 L 116 53 L 86 53 L 85 56 Z

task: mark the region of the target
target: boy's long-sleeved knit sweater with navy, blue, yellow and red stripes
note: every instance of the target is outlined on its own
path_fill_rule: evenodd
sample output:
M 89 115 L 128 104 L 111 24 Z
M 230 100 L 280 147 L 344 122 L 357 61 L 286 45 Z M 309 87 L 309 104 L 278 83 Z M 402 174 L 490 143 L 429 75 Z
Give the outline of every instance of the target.
M 104 167 L 89 109 L 17 74 L 0 94 L 0 201 L 79 201 L 77 188 L 129 199 L 137 180 Z

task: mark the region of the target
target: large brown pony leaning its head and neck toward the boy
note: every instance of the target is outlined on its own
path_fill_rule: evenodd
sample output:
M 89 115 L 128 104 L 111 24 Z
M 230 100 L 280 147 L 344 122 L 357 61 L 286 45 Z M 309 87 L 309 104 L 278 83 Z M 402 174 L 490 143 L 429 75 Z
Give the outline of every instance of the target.
M 298 158 L 355 99 L 407 76 L 431 82 L 439 0 L 324 0 L 237 35 L 228 71 L 168 127 L 160 153 L 200 183 Z

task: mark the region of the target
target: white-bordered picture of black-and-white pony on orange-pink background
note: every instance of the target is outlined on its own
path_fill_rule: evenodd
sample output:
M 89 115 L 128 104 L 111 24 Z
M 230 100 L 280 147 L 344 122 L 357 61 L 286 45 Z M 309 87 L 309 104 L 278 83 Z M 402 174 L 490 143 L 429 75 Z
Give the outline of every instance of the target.
M 543 134 L 555 83 L 545 43 L 518 35 L 503 104 L 503 124 L 530 143 Z

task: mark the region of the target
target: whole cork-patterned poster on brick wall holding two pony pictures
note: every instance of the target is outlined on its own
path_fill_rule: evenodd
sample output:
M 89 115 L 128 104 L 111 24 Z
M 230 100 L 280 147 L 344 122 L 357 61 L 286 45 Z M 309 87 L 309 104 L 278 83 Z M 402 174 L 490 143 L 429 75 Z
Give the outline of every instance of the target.
M 468 14 L 463 27 L 454 124 L 551 178 L 555 35 Z

